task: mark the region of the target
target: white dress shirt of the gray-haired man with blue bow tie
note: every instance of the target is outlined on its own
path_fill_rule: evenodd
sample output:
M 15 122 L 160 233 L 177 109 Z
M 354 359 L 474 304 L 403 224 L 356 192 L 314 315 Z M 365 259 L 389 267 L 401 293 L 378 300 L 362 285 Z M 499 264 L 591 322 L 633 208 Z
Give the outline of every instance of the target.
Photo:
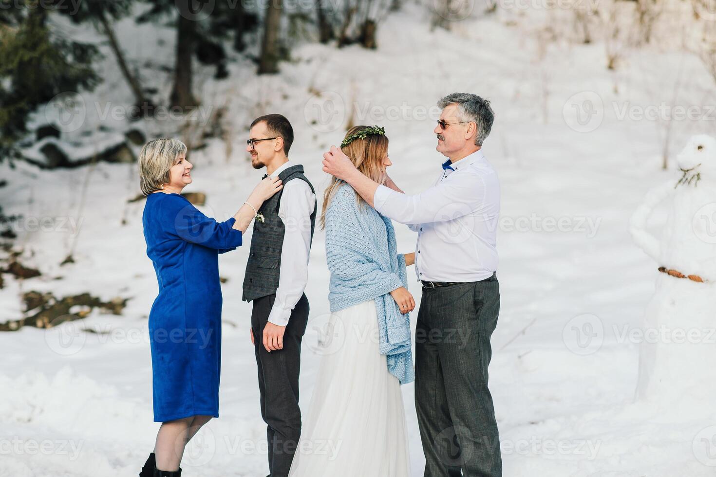
M 497 270 L 500 182 L 481 150 L 453 164 L 425 192 L 400 194 L 383 185 L 375 210 L 418 232 L 415 273 L 430 282 L 476 282 Z

